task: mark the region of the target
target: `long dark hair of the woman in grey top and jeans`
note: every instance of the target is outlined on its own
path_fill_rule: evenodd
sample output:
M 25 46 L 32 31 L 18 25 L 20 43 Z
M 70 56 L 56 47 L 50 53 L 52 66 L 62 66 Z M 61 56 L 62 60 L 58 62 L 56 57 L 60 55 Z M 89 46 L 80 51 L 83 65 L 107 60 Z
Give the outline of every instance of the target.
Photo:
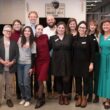
M 30 35 L 30 37 L 29 37 L 29 45 L 30 45 L 30 47 L 32 46 L 32 44 L 33 44 L 33 42 L 34 42 L 34 34 L 33 34 L 33 31 L 32 31 L 32 28 L 30 27 L 30 26 L 26 26 L 26 27 L 24 27 L 23 28 L 23 30 L 22 30 L 22 35 L 21 35 L 21 46 L 23 46 L 25 43 L 26 43 L 26 37 L 25 37 L 25 35 L 24 35 L 24 31 L 25 31 L 25 29 L 29 29 L 30 30 L 30 32 L 31 32 L 31 35 Z

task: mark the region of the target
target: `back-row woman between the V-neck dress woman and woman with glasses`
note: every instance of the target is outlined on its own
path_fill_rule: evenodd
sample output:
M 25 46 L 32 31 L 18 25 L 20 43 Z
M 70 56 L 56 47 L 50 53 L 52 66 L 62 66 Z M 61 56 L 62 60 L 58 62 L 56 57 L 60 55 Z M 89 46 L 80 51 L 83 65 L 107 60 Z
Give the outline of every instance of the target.
M 72 35 L 73 37 L 76 37 L 77 35 L 77 21 L 75 18 L 70 18 L 67 23 L 67 33 Z M 70 93 L 69 93 L 69 99 L 72 98 L 72 85 L 73 85 L 73 76 L 70 78 Z M 77 100 L 77 93 L 74 97 L 75 100 Z

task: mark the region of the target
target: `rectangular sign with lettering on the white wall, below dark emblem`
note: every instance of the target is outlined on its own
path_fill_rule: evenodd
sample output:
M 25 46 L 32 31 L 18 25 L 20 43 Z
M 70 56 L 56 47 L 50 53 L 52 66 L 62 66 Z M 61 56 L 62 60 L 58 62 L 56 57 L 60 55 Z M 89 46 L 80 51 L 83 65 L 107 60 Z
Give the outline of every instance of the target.
M 59 3 L 59 7 L 55 9 L 52 3 L 45 4 L 45 16 L 53 15 L 54 17 L 65 17 L 65 4 Z

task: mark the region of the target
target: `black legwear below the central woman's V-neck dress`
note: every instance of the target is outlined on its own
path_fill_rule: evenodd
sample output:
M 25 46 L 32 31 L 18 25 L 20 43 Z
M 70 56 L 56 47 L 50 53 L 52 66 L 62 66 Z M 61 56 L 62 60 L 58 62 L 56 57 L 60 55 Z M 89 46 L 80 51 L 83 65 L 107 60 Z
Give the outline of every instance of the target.
M 70 76 L 55 76 L 56 87 L 59 94 L 69 94 L 70 92 Z

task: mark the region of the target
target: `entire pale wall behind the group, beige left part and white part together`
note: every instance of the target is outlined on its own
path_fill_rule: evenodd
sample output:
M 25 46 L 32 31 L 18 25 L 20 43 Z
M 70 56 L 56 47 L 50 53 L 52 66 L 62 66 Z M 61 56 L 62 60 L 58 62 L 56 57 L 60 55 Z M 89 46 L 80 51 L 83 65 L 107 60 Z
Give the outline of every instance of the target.
M 45 4 L 53 0 L 0 0 L 0 24 L 12 23 L 20 19 L 28 23 L 28 12 L 36 10 L 39 17 L 45 17 Z M 57 0 L 65 4 L 65 17 L 74 17 L 77 21 L 86 19 L 86 0 Z

